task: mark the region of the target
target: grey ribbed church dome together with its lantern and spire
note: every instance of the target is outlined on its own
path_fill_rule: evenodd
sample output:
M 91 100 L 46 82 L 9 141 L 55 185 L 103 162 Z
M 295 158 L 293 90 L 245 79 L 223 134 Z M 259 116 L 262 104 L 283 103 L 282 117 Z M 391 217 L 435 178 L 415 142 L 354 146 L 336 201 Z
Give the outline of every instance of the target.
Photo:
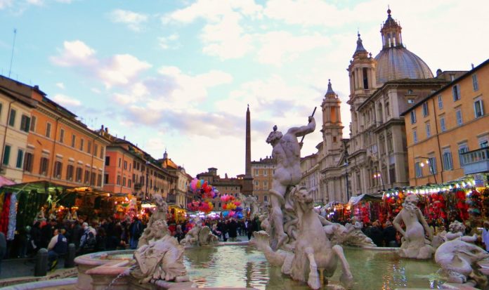
M 394 79 L 429 79 L 433 73 L 426 62 L 403 45 L 402 27 L 393 20 L 391 9 L 382 29 L 382 51 L 375 57 L 377 84 Z

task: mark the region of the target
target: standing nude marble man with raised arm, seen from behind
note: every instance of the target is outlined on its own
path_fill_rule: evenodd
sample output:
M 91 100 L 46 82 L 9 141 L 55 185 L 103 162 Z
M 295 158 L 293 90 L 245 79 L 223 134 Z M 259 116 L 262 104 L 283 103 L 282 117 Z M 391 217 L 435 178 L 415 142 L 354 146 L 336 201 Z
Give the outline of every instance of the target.
M 306 126 L 289 128 L 287 133 L 282 136 L 277 131 L 277 126 L 268 135 L 266 143 L 272 145 L 272 157 L 277 160 L 275 173 L 270 190 L 270 204 L 272 212 L 269 217 L 271 243 L 274 250 L 287 242 L 289 238 L 284 231 L 284 216 L 282 209 L 291 209 L 292 206 L 286 202 L 287 189 L 298 185 L 301 181 L 301 145 L 297 137 L 305 136 L 315 130 L 315 119 L 308 117 L 309 123 Z M 288 204 L 288 205 L 287 205 Z

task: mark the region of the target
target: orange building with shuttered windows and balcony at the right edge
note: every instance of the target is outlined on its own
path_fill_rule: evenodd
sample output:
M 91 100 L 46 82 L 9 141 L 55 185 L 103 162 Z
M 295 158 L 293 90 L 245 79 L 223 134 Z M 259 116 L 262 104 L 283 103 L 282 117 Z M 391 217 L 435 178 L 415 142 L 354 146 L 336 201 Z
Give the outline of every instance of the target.
M 410 107 L 405 118 L 410 185 L 489 172 L 489 60 Z

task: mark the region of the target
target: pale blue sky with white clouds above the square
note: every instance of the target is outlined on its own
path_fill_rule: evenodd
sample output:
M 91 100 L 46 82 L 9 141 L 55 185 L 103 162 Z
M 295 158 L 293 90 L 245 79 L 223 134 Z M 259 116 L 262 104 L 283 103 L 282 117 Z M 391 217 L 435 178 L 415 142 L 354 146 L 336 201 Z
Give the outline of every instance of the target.
M 388 5 L 433 74 L 488 58 L 482 0 L 0 0 L 0 74 L 192 176 L 231 177 L 244 173 L 247 105 L 252 160 L 271 154 L 273 125 L 306 125 L 318 107 L 306 156 L 331 79 L 348 138 L 346 69 L 358 32 L 379 53 Z

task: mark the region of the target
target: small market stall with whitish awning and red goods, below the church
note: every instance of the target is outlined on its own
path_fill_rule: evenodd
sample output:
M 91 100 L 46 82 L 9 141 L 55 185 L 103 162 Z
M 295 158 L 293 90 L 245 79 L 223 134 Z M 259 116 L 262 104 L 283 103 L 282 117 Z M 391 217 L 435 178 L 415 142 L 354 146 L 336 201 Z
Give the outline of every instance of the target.
M 363 194 L 358 197 L 351 197 L 348 206 L 351 207 L 351 215 L 366 223 L 372 223 L 379 220 L 384 223 L 386 218 L 382 207 L 382 195 Z

